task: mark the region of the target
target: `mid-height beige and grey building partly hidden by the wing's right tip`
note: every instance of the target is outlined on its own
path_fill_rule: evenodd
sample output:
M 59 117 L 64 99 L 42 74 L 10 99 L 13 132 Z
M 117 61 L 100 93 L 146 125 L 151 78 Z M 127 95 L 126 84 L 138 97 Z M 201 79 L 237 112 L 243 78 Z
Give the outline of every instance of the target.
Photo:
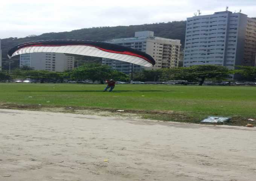
M 153 31 L 137 31 L 134 37 L 120 38 L 105 41 L 145 52 L 154 58 L 156 64 L 153 67 L 143 67 L 119 60 L 102 59 L 102 64 L 111 66 L 112 69 L 123 73 L 140 72 L 143 69 L 161 69 L 178 67 L 180 56 L 180 40 L 155 37 Z M 133 68 L 132 68 L 133 66 Z

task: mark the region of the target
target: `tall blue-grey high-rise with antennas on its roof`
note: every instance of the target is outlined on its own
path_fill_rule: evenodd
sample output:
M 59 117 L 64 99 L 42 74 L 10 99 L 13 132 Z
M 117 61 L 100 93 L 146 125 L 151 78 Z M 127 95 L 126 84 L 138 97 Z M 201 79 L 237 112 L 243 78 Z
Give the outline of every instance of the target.
M 242 13 L 223 11 L 187 18 L 183 66 L 213 64 L 234 69 L 244 65 L 247 29 L 248 18 Z

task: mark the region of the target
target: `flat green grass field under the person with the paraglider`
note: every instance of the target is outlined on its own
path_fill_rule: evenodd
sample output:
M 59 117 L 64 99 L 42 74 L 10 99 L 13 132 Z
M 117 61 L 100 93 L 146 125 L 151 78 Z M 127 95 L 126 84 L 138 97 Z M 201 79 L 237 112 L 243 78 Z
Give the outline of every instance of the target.
M 174 111 L 197 122 L 210 115 L 256 118 L 256 87 L 116 85 L 112 93 L 105 85 L 0 84 L 0 102 L 42 106 L 74 106 L 143 111 Z M 29 97 L 32 98 L 29 98 Z M 145 117 L 147 117 L 145 115 Z M 164 114 L 149 118 L 172 120 Z M 186 120 L 187 121 L 187 120 Z M 189 120 L 188 120 L 189 121 Z

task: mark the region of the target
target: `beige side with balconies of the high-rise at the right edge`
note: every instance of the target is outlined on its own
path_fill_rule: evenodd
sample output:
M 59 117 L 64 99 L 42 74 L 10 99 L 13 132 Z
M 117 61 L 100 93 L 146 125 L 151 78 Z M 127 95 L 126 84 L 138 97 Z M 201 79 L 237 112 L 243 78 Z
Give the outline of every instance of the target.
M 256 19 L 247 18 L 247 27 L 244 42 L 245 66 L 255 66 L 256 61 Z

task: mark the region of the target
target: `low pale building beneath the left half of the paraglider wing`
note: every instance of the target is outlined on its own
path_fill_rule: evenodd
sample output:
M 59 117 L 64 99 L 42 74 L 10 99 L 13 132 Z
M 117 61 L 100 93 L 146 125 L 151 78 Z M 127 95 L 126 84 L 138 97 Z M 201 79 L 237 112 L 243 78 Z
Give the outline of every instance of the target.
M 74 68 L 75 57 L 62 53 L 31 53 L 20 55 L 20 67 L 29 66 L 35 70 L 63 72 Z

